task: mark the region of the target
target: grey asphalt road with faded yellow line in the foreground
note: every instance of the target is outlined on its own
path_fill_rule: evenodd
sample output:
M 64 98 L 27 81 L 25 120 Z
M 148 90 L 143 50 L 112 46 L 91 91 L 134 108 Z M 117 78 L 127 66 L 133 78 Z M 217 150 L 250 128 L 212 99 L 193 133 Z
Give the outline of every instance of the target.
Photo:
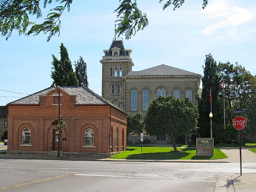
M 214 191 L 238 163 L 0 160 L 0 191 Z M 256 173 L 244 163 L 243 173 Z

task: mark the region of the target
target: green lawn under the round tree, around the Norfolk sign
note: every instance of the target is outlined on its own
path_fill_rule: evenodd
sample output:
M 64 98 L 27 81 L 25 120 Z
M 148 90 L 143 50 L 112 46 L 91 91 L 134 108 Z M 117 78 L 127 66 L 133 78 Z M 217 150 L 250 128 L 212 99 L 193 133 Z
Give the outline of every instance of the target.
M 171 151 L 172 150 L 172 151 Z M 173 147 L 143 147 L 142 159 L 224 159 L 227 156 L 218 149 L 214 149 L 214 156 L 195 156 L 196 149 L 178 148 L 178 152 L 173 151 Z M 116 154 L 112 159 L 141 159 L 141 147 L 127 147 L 126 151 Z

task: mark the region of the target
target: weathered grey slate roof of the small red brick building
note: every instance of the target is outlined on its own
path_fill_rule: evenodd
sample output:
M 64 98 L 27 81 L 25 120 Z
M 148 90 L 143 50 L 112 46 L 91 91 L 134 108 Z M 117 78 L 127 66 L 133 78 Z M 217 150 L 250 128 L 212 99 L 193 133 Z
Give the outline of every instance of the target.
M 107 101 L 103 97 L 99 96 L 95 92 L 91 91 L 89 88 L 84 86 L 61 86 L 62 90 L 66 91 L 70 95 L 76 95 L 75 104 L 110 104 L 111 106 L 117 108 L 111 102 Z M 51 88 L 46 88 L 42 91 L 38 91 L 34 94 L 28 95 L 16 101 L 12 101 L 8 104 L 39 104 L 39 95 L 47 95 L 51 92 Z M 123 111 L 124 112 L 124 111 Z

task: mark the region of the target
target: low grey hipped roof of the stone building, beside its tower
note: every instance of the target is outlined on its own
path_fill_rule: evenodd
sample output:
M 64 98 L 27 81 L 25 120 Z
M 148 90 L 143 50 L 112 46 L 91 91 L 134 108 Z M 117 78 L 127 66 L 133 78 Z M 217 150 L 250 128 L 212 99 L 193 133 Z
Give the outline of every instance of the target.
M 144 69 L 142 71 L 131 71 L 126 76 L 161 76 L 161 75 L 200 75 L 183 69 L 178 69 L 168 65 L 158 65 L 152 68 Z

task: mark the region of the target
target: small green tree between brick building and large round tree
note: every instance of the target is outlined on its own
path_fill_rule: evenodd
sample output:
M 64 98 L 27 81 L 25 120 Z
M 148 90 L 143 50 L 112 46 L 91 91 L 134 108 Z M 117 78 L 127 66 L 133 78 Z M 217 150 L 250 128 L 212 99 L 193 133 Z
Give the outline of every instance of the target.
M 127 135 L 126 138 L 133 134 L 140 134 L 144 131 L 141 112 L 136 112 L 135 115 L 127 116 Z

